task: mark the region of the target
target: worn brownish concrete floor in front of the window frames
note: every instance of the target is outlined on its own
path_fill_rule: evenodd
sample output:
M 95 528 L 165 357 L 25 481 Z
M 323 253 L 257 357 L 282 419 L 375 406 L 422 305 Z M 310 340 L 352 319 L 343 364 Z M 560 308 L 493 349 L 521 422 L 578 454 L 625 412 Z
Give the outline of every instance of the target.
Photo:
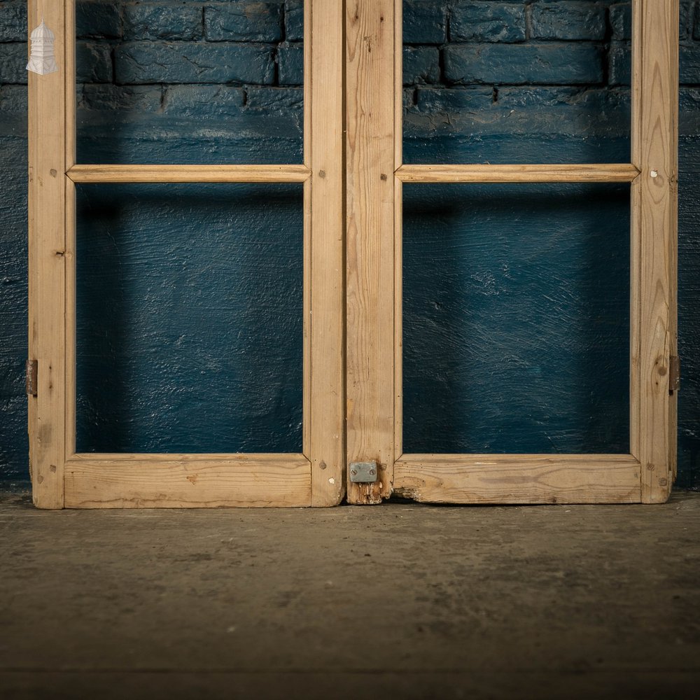
M 0 528 L 3 700 L 700 696 L 696 493 Z

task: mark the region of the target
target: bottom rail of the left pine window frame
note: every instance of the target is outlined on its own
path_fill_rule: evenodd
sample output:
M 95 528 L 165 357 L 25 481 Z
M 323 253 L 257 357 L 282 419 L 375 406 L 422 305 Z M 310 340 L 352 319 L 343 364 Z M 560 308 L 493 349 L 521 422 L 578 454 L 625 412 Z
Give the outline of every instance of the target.
M 310 476 L 302 454 L 82 454 L 66 461 L 65 507 L 306 507 Z

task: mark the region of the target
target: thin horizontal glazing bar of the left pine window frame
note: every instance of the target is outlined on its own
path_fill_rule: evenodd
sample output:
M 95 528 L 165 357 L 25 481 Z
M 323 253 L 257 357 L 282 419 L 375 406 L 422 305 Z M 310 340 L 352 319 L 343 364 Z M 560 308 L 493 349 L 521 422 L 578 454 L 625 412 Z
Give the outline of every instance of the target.
M 304 182 L 304 165 L 73 165 L 75 183 Z

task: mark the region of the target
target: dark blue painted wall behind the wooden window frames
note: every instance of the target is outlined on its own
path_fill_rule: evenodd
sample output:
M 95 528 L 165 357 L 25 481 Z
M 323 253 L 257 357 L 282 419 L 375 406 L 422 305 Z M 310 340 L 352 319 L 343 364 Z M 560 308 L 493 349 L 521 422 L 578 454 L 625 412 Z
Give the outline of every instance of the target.
M 405 160 L 629 160 L 629 25 L 610 0 L 406 1 Z M 699 487 L 700 3 L 680 39 L 679 483 Z M 25 40 L 25 2 L 0 0 L 7 482 L 27 479 Z M 298 1 L 79 2 L 79 160 L 300 162 L 301 40 Z M 626 451 L 627 188 L 405 190 L 405 447 Z M 162 191 L 79 193 L 82 449 L 299 449 L 299 193 Z

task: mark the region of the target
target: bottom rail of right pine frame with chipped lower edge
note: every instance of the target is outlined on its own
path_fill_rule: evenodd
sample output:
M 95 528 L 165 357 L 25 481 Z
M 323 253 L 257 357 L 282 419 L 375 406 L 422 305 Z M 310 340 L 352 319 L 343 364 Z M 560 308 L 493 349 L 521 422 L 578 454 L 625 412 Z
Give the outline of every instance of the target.
M 630 455 L 405 454 L 394 490 L 424 503 L 639 503 Z

